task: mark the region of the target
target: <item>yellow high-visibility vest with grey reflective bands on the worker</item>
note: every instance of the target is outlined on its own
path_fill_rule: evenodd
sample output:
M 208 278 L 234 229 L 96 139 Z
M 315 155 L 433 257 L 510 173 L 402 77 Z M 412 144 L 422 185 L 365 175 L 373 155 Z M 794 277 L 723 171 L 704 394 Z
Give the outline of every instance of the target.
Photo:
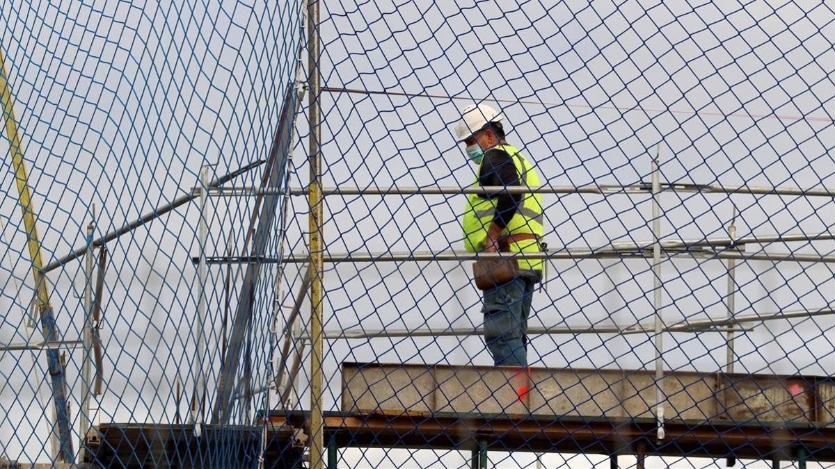
M 499 144 L 493 148 L 504 150 L 510 155 L 514 161 L 516 173 L 519 174 L 519 183 L 523 187 L 539 187 L 539 176 L 519 149 L 508 144 Z M 478 168 L 478 172 L 480 174 L 481 167 Z M 478 186 L 478 177 L 476 177 L 475 187 Z M 493 222 L 497 204 L 498 198 L 487 199 L 480 194 L 468 194 L 467 205 L 461 215 L 461 226 L 464 234 L 464 248 L 469 252 L 478 252 L 486 247 L 487 229 Z M 502 231 L 501 236 L 528 233 L 541 237 L 544 235 L 543 218 L 542 195 L 523 194 L 516 213 Z M 510 252 L 539 252 L 537 240 L 524 240 L 519 243 L 510 243 L 509 246 Z M 519 269 L 542 270 L 543 265 L 544 260 L 519 258 Z

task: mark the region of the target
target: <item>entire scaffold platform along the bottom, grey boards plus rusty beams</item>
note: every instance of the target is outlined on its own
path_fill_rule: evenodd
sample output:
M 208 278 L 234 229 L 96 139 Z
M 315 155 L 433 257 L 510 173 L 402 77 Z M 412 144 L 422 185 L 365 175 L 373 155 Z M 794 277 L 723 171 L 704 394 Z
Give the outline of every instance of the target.
M 671 371 L 664 390 L 658 439 L 650 371 L 345 363 L 325 441 L 331 461 L 342 447 L 835 461 L 832 377 Z M 89 461 L 200 466 L 209 443 L 252 457 L 262 441 L 267 467 L 299 467 L 309 416 L 276 410 L 266 426 L 201 437 L 192 425 L 104 424 Z

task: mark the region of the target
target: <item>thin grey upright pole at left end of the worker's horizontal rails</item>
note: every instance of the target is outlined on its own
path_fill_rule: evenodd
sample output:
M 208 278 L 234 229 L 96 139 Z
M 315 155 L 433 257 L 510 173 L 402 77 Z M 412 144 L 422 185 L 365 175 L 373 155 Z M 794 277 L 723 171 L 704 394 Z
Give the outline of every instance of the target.
M 195 436 L 198 438 L 203 431 L 203 399 L 205 396 L 204 356 L 205 344 L 203 343 L 203 328 L 206 320 L 206 243 L 209 238 L 209 225 L 207 221 L 209 202 L 209 167 L 203 166 L 200 169 L 200 220 L 197 223 L 198 237 L 200 239 L 200 261 L 197 265 L 198 293 L 197 293 L 197 381 L 195 383 L 195 399 L 192 401 L 192 416 L 195 418 Z

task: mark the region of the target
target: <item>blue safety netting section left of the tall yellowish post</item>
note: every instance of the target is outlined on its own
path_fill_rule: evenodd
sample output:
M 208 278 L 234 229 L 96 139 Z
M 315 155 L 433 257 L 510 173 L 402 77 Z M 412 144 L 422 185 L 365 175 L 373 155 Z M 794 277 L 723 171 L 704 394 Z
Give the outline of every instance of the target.
M 82 461 L 115 452 L 105 466 L 251 465 L 261 451 L 256 413 L 268 406 L 256 388 L 271 373 L 280 267 L 213 266 L 201 289 L 192 260 L 200 255 L 200 204 L 153 215 L 190 199 L 204 165 L 210 181 L 244 169 L 225 185 L 283 185 L 289 139 L 280 131 L 291 128 L 285 121 L 298 101 L 301 3 L 8 2 L 0 4 L 0 24 L 60 341 L 43 345 L 13 152 L 3 134 L 0 342 L 26 350 L 0 352 L 0 460 Z M 11 119 L 8 109 L 3 117 Z M 211 198 L 206 255 L 277 253 L 283 198 Z M 98 241 L 146 214 L 148 223 Z M 92 275 L 83 256 L 67 259 L 89 244 Z M 89 349 L 102 386 L 95 389 L 92 373 L 95 395 L 85 411 L 88 276 L 93 290 L 104 280 L 93 300 L 99 351 Z M 58 381 L 47 366 L 54 350 L 64 361 Z M 62 386 L 65 408 L 53 399 Z M 56 408 L 64 416 L 58 423 Z M 92 421 L 90 433 L 82 414 Z M 180 454 L 147 451 L 159 448 L 154 438 L 172 425 L 191 428 L 198 416 L 202 440 L 175 433 Z M 99 433 L 112 422 L 128 427 Z

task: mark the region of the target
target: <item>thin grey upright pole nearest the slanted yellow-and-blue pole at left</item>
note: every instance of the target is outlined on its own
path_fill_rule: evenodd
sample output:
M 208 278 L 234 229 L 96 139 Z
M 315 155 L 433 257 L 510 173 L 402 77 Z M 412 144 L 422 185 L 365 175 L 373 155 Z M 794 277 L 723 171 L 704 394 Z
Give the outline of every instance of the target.
M 93 208 L 93 219 L 96 209 Z M 84 326 L 83 326 L 83 359 L 81 365 L 81 411 L 78 420 L 81 429 L 78 432 L 78 461 L 84 460 L 84 439 L 90 428 L 90 389 L 93 381 L 93 229 L 94 221 L 87 225 L 87 254 L 84 255 Z

